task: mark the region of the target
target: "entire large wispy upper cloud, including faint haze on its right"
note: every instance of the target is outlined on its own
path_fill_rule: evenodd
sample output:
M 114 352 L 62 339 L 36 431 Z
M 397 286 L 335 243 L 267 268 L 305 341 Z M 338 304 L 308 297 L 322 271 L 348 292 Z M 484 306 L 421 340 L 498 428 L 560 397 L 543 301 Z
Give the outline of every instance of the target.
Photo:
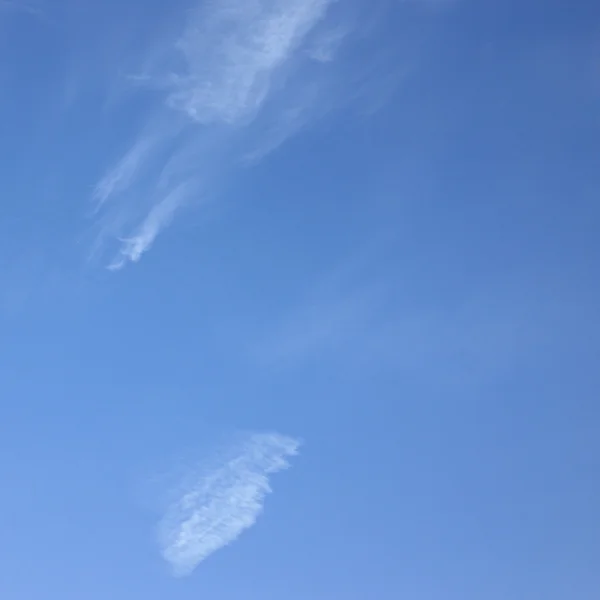
M 387 71 L 398 61 L 380 56 L 372 31 L 359 67 L 338 52 L 366 27 L 363 16 L 337 0 L 212 0 L 189 11 L 170 42 L 148 49 L 128 78 L 136 92 L 127 108 L 137 100 L 150 116 L 92 194 L 95 248 L 120 245 L 109 268 L 138 261 L 183 204 L 206 198 L 236 169 L 334 110 L 389 98 L 398 77 Z M 375 56 L 383 74 L 371 68 Z

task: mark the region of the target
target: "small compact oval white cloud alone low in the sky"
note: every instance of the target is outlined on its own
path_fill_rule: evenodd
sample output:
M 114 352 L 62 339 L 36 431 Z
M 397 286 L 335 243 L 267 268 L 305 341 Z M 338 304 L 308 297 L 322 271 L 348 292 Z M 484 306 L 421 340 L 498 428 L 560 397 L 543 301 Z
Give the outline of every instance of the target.
M 186 478 L 159 524 L 162 556 L 174 575 L 189 575 L 254 525 L 271 492 L 269 476 L 289 466 L 299 445 L 279 434 L 253 434 Z

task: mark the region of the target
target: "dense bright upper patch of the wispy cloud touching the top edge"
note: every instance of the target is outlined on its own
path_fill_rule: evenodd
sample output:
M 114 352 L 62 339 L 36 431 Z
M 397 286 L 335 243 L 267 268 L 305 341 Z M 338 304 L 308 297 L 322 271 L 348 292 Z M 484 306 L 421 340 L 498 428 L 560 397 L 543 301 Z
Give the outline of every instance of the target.
M 221 0 L 202 6 L 177 44 L 185 68 L 168 105 L 201 123 L 252 118 L 271 78 L 324 16 L 330 0 Z

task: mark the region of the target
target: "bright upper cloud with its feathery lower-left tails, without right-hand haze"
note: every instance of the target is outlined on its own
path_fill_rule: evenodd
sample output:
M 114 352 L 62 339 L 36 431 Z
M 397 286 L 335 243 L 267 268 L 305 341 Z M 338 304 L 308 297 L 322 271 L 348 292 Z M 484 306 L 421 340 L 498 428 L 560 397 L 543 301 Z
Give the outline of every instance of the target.
M 246 155 L 254 159 L 305 122 L 302 107 L 278 111 L 273 100 L 285 96 L 284 79 L 289 85 L 300 62 L 317 64 L 301 49 L 333 1 L 202 3 L 191 11 L 176 41 L 150 53 L 130 83 L 140 99 L 151 97 L 156 106 L 92 197 L 99 245 L 110 239 L 120 244 L 109 268 L 138 261 L 180 206 L 197 202 L 217 185 L 215 173 L 242 162 L 236 152 L 259 116 L 270 139 L 250 143 Z

